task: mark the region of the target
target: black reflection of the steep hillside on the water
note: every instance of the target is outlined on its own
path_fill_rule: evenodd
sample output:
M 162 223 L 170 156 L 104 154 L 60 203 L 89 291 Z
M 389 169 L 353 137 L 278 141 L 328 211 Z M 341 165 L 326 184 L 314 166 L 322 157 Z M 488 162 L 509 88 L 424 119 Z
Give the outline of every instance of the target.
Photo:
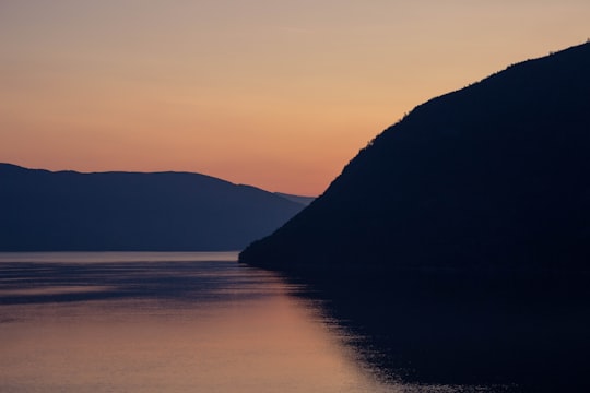
M 293 277 L 293 276 L 292 276 Z M 589 392 L 583 274 L 397 272 L 294 279 L 405 390 Z

